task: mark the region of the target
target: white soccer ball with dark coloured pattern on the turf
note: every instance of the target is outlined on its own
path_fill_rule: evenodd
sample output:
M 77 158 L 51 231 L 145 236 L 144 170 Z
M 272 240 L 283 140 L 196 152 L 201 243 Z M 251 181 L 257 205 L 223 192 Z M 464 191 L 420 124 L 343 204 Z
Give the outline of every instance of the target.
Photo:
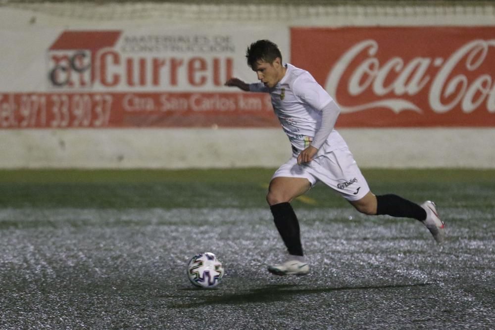
M 189 281 L 198 287 L 215 287 L 222 281 L 224 274 L 222 263 L 211 252 L 198 253 L 187 265 Z

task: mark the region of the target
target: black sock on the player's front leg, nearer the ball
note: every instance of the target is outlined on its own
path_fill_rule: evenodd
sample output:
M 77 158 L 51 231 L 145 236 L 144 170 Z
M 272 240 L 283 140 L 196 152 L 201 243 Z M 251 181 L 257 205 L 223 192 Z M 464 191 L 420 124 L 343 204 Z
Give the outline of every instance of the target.
M 273 214 L 273 221 L 279 231 L 280 236 L 287 246 L 289 254 L 304 255 L 302 253 L 299 221 L 290 203 L 279 203 L 270 206 Z

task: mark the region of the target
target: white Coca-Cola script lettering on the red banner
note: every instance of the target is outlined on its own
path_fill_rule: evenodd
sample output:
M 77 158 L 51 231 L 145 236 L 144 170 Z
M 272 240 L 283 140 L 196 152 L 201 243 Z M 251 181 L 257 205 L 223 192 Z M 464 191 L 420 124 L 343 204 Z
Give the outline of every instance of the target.
M 495 39 L 478 39 L 462 45 L 446 59 L 418 55 L 406 61 L 396 55 L 380 61 L 379 43 L 366 39 L 350 47 L 339 58 L 327 77 L 325 89 L 337 101 L 341 93 L 353 96 L 357 101 L 365 91 L 376 96 L 369 102 L 341 103 L 343 113 L 373 108 L 388 108 L 395 113 L 423 113 L 425 109 L 410 98 L 425 90 L 430 109 L 435 113 L 445 113 L 456 106 L 462 112 L 470 113 L 483 104 L 493 113 L 494 79 L 489 72 L 476 71 L 487 61 L 494 67 L 493 47 Z M 356 63 L 357 57 L 364 57 L 364 60 Z M 344 75 L 348 76 L 347 82 L 343 81 Z M 341 90 L 337 91 L 338 88 Z

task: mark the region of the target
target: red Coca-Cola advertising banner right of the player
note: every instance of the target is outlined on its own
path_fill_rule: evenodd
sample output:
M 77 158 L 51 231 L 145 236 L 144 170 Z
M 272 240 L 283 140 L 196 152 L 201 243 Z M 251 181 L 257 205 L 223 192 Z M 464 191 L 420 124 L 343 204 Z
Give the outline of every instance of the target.
M 495 126 L 495 27 L 292 28 L 339 127 Z

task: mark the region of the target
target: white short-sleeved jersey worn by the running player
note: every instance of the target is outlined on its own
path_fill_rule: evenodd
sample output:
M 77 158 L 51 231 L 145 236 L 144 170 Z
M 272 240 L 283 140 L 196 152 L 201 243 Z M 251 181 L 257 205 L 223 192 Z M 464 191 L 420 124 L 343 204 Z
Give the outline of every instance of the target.
M 249 84 L 249 90 L 270 93 L 273 110 L 297 155 L 313 140 L 320 127 L 321 109 L 333 99 L 309 72 L 288 63 L 286 67 L 284 77 L 275 87 L 254 83 Z M 332 130 L 317 155 L 345 145 L 340 134 Z

